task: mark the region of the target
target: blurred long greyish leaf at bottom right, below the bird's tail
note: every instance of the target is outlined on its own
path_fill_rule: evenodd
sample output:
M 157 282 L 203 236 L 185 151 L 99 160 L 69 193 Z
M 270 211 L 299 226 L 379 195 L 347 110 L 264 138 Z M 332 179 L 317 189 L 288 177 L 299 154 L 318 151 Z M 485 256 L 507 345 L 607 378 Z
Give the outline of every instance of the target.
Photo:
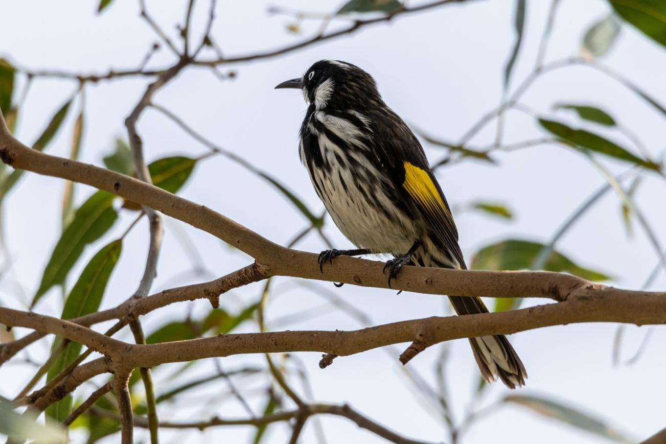
M 627 435 L 613 429 L 613 427 L 587 413 L 562 405 L 550 399 L 529 395 L 507 395 L 504 402 L 515 403 L 531 409 L 539 415 L 557 419 L 563 423 L 577 427 L 578 429 L 594 433 L 601 437 L 617 441 L 619 443 L 635 443 L 635 439 L 629 439 Z

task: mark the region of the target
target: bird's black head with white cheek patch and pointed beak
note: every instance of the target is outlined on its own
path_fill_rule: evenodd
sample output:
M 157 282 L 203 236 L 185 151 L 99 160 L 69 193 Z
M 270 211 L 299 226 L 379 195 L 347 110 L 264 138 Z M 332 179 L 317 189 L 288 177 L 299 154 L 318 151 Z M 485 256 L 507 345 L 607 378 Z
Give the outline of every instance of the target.
M 338 60 L 318 61 L 302 77 L 282 82 L 275 88 L 300 89 L 305 101 L 317 110 L 332 107 L 360 111 L 382 101 L 370 74 Z

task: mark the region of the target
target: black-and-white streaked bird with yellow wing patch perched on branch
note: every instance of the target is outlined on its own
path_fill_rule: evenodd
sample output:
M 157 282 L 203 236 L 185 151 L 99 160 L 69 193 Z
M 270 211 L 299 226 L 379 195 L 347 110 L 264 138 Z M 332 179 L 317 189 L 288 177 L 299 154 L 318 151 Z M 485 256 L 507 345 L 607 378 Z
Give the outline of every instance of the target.
M 337 60 L 314 63 L 276 89 L 300 89 L 308 105 L 298 152 L 328 214 L 357 248 L 337 256 L 388 255 L 388 285 L 402 266 L 466 269 L 451 208 L 414 132 L 382 99 L 374 78 Z M 450 296 L 458 315 L 487 313 L 480 298 Z M 509 388 L 527 372 L 503 335 L 469 339 L 482 377 Z

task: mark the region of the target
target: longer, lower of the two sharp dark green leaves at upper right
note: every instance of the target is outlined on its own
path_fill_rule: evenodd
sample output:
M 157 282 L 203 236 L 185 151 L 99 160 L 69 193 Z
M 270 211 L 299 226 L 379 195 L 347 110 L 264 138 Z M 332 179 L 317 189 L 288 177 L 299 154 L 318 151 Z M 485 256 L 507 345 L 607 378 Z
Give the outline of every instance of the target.
M 625 160 L 627 162 L 632 162 L 644 168 L 650 170 L 659 171 L 661 167 L 652 162 L 651 160 L 645 160 L 631 154 L 631 152 L 625 150 L 621 146 L 607 140 L 597 134 L 586 130 L 573 129 L 569 126 L 560 123 L 554 122 L 553 120 L 545 120 L 543 118 L 539 119 L 539 124 L 545 128 L 551 134 L 573 144 L 574 146 L 579 146 L 587 148 L 588 150 L 599 152 L 607 156 L 611 156 L 620 160 Z

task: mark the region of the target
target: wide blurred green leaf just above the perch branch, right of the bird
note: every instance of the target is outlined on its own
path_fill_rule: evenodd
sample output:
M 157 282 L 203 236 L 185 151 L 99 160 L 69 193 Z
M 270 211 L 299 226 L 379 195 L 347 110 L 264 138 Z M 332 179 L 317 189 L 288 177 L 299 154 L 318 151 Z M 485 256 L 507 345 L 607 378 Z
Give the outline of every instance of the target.
M 472 259 L 472 268 L 474 270 L 529 270 L 542 248 L 544 248 L 544 245 L 539 242 L 517 239 L 503 240 L 479 250 Z M 610 279 L 603 273 L 575 264 L 557 251 L 551 252 L 543 270 L 566 272 L 591 281 Z

